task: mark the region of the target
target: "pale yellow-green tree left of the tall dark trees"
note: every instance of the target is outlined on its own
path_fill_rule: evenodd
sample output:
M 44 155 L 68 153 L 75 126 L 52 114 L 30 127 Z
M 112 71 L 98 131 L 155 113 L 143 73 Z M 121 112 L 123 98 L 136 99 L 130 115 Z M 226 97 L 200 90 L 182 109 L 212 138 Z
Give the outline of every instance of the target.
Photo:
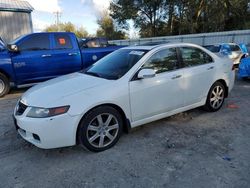
M 117 30 L 113 19 L 109 16 L 108 12 L 102 13 L 101 17 L 97 20 L 99 28 L 96 31 L 97 37 L 105 37 L 109 40 L 125 39 L 126 33 Z

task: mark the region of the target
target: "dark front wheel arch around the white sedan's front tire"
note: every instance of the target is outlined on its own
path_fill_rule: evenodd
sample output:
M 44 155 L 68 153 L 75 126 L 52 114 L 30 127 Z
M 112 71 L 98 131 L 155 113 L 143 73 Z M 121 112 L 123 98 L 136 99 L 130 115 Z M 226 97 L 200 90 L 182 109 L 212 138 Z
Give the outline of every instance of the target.
M 78 138 L 77 138 L 77 134 L 78 134 L 78 131 L 79 131 L 79 125 L 82 123 L 84 117 L 86 117 L 86 115 L 88 113 L 90 113 L 92 110 L 96 109 L 96 108 L 99 108 L 99 107 L 102 107 L 102 106 L 109 106 L 109 107 L 112 107 L 114 109 L 116 109 L 122 116 L 122 121 L 123 121 L 123 132 L 125 133 L 129 133 L 130 129 L 131 129 L 131 124 L 130 124 L 130 120 L 127 118 L 124 110 L 116 105 L 116 104 L 113 104 L 113 103 L 104 103 L 104 104 L 100 104 L 100 105 L 97 105 L 91 109 L 89 109 L 86 113 L 84 113 L 84 115 L 82 116 L 81 120 L 79 121 L 78 125 L 77 125 L 77 130 L 76 130 L 76 134 L 75 134 L 75 139 L 76 139 L 76 144 L 78 144 Z

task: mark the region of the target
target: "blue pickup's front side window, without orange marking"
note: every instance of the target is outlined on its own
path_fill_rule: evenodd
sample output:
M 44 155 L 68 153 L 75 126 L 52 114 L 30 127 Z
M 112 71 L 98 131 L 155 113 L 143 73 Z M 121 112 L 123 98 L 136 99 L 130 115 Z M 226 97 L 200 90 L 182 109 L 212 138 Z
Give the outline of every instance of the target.
M 50 41 L 49 41 L 49 35 L 47 34 L 32 35 L 19 45 L 20 51 L 49 50 L 49 49 L 50 49 Z

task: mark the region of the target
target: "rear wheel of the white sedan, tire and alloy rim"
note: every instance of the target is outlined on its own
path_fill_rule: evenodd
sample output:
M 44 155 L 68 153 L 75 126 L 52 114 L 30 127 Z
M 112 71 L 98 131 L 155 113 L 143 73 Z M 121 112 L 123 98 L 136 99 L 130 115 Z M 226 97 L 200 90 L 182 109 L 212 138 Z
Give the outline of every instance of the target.
M 225 99 L 225 86 L 221 82 L 215 82 L 210 88 L 204 109 L 209 112 L 218 111 Z

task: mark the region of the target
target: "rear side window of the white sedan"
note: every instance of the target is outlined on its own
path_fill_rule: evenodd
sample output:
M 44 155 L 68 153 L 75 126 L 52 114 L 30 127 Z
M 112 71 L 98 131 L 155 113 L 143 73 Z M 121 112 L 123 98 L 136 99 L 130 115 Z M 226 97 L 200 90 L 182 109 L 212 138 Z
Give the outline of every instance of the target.
M 182 47 L 180 48 L 180 51 L 185 67 L 192 67 L 213 62 L 212 57 L 201 49 Z

